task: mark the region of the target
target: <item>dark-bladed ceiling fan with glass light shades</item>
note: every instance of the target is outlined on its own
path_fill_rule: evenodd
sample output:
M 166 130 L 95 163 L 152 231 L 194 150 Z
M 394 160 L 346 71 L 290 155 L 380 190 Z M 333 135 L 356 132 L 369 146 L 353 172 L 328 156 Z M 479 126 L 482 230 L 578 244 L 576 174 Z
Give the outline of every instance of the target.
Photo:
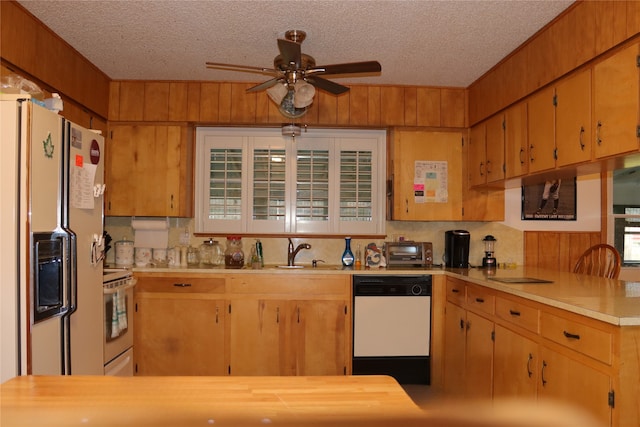
M 267 90 L 269 97 L 288 118 L 303 116 L 313 102 L 315 88 L 334 95 L 349 90 L 321 76 L 339 77 L 344 74 L 377 74 L 382 71 L 378 61 L 351 62 L 333 65 L 316 65 L 315 59 L 302 53 L 301 44 L 306 37 L 301 30 L 289 30 L 284 39 L 278 39 L 280 54 L 273 60 L 273 68 L 207 62 L 207 68 L 242 71 L 269 75 L 273 78 L 247 89 L 247 92 Z

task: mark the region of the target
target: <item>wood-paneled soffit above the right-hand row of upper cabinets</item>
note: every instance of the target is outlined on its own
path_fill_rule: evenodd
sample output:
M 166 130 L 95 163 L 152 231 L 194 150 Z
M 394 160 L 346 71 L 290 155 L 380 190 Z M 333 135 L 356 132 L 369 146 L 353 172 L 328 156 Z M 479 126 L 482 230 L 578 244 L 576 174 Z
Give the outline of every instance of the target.
M 640 33 L 640 1 L 577 1 L 469 86 L 474 125 Z

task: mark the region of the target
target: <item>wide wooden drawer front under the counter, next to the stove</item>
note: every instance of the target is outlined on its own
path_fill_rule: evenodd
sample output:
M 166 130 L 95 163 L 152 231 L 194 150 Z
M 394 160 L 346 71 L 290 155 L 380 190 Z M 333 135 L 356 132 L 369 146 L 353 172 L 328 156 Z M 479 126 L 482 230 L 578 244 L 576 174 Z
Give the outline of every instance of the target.
M 225 279 L 223 277 L 140 277 L 135 291 L 136 293 L 224 293 Z

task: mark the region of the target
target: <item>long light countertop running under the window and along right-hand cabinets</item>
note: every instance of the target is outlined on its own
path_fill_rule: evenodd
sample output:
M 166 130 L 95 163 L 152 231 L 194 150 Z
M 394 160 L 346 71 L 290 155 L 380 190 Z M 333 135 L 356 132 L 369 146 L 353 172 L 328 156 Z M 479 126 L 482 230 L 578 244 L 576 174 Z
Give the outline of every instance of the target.
M 259 274 L 279 273 L 283 275 L 297 274 L 432 274 L 448 275 L 470 282 L 527 298 L 601 320 L 619 326 L 640 326 L 640 282 L 603 279 L 569 272 L 518 266 L 511 269 L 498 268 L 488 271 L 481 268 L 443 269 L 434 268 L 371 268 L 343 269 L 341 266 L 320 265 L 317 268 L 304 266 L 300 269 L 283 269 L 277 266 L 265 266 L 263 269 L 225 269 L 225 268 L 134 268 L 134 273 L 162 274 Z M 530 277 L 549 280 L 552 283 L 505 284 L 492 278 Z

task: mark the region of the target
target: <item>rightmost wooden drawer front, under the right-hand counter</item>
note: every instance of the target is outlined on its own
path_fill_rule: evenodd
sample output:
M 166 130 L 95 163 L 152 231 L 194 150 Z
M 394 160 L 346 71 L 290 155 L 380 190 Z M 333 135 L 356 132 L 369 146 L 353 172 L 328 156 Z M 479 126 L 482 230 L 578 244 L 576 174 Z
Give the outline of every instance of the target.
M 540 332 L 551 341 L 611 364 L 612 333 L 542 312 Z

